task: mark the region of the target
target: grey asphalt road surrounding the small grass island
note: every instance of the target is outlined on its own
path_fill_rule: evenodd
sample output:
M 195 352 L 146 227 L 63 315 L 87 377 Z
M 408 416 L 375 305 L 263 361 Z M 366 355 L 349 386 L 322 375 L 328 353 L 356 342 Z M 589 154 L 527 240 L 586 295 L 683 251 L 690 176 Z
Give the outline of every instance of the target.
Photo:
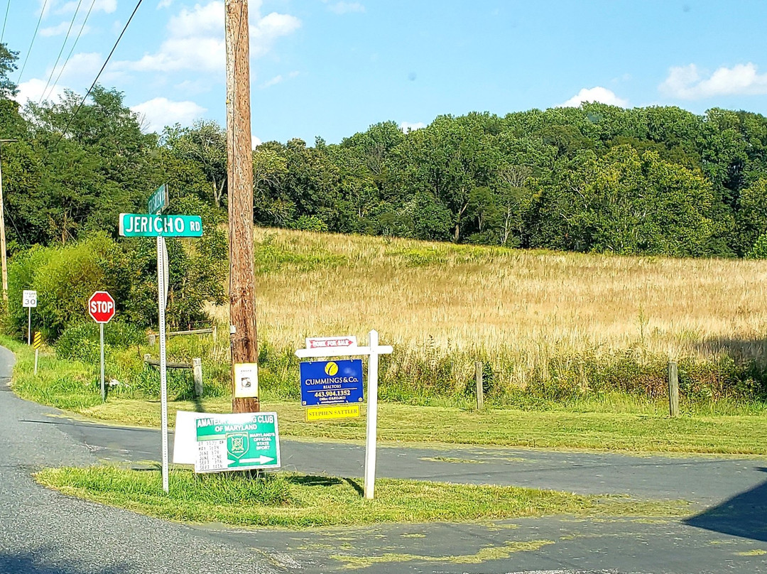
M 166 523 L 39 487 L 39 467 L 159 460 L 154 430 L 21 401 L 0 348 L 0 572 L 767 572 L 767 461 L 534 449 L 380 447 L 378 476 L 686 499 L 686 520 L 572 517 L 286 532 Z M 283 464 L 362 476 L 364 447 L 283 440 Z M 519 547 L 537 549 L 522 549 Z

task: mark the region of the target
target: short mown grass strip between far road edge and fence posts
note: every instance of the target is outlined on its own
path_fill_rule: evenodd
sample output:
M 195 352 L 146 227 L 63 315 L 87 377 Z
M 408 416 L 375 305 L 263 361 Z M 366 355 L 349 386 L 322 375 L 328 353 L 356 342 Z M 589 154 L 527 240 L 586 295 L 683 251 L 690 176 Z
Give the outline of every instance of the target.
M 229 399 L 202 401 L 205 412 L 231 412 Z M 173 401 L 175 411 L 195 411 L 198 404 Z M 304 421 L 295 403 L 262 403 L 278 414 L 282 437 L 363 441 L 365 417 L 344 421 Z M 364 409 L 363 409 L 364 411 Z M 110 399 L 77 411 L 84 417 L 141 427 L 160 427 L 160 403 Z M 384 442 L 487 444 L 506 447 L 586 448 L 630 452 L 767 454 L 767 417 L 759 415 L 692 416 L 660 414 L 572 413 L 567 411 L 466 411 L 380 403 L 378 438 Z

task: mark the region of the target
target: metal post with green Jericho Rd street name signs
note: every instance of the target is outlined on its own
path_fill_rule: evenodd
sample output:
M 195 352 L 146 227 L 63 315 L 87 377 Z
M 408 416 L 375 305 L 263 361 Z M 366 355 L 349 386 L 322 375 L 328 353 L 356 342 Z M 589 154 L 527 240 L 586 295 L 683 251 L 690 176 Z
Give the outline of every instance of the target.
M 168 381 L 165 344 L 165 308 L 168 299 L 166 237 L 202 237 L 200 216 L 160 215 L 168 206 L 168 186 L 158 187 L 146 209 L 149 213 L 120 213 L 120 236 L 157 238 L 157 310 L 160 332 L 160 417 L 163 440 L 163 490 L 168 492 Z

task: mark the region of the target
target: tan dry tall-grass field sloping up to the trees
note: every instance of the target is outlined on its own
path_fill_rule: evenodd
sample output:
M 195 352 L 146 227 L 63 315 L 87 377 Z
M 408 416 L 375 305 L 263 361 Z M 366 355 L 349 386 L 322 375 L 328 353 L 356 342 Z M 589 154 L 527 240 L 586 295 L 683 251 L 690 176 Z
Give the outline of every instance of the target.
M 255 229 L 259 338 L 375 328 L 390 368 L 481 358 L 510 384 L 551 376 L 553 360 L 616 354 L 761 361 L 767 262 L 532 252 L 406 239 Z M 223 324 L 226 308 L 212 309 Z M 582 369 L 581 369 L 582 371 Z M 584 374 L 584 378 L 587 377 Z M 588 381 L 579 384 L 588 386 Z

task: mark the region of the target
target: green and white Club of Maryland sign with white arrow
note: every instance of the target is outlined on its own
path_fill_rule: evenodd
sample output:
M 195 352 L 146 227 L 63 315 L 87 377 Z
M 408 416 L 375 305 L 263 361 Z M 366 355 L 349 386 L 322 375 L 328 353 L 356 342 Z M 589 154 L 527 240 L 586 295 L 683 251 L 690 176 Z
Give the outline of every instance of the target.
M 280 467 L 277 413 L 216 414 L 196 426 L 196 473 Z

